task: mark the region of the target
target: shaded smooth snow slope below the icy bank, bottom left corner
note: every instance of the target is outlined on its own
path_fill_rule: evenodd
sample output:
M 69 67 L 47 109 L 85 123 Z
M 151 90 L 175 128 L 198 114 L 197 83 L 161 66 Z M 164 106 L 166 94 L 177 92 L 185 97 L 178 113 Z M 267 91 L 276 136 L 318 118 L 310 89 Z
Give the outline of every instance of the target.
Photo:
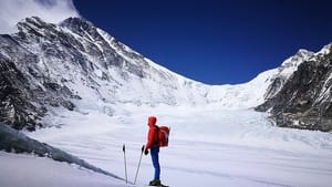
M 0 152 L 1 187 L 124 187 L 121 180 L 45 157 Z

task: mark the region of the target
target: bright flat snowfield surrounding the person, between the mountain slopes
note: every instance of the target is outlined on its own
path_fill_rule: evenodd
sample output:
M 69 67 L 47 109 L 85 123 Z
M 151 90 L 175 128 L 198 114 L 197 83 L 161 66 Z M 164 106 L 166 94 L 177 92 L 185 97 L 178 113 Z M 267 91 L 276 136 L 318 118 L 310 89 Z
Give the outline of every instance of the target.
M 28 135 L 123 177 L 125 144 L 133 181 L 146 141 L 146 118 L 156 115 L 159 125 L 172 127 L 169 147 L 159 154 L 162 181 L 169 186 L 330 187 L 332 183 L 329 133 L 273 127 L 267 114 L 249 110 L 122 104 L 113 116 L 107 112 L 66 112 L 49 118 L 62 126 Z M 152 177 L 151 157 L 143 156 L 136 184 L 146 185 Z

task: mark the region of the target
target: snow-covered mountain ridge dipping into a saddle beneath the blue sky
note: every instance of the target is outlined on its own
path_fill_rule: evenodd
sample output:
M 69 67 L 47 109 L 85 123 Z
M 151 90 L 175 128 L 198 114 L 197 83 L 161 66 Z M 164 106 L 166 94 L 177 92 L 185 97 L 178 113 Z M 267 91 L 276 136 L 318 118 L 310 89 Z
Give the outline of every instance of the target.
M 20 21 L 18 29 L 15 34 L 0 35 L 0 62 L 10 61 L 24 77 L 21 83 L 4 81 L 0 87 L 20 90 L 15 85 L 28 83 L 19 94 L 27 106 L 3 100 L 9 93 L 1 100 L 7 115 L 0 121 L 15 124 L 18 129 L 49 126 L 43 117 L 61 116 L 55 107 L 79 112 L 94 105 L 101 112 L 113 111 L 107 115 L 116 111 L 116 103 L 253 108 L 274 97 L 300 64 L 318 56 L 299 50 L 280 67 L 262 72 L 248 83 L 207 85 L 158 65 L 82 18 L 53 24 L 32 17 Z M 1 73 L 6 80 L 6 71 Z

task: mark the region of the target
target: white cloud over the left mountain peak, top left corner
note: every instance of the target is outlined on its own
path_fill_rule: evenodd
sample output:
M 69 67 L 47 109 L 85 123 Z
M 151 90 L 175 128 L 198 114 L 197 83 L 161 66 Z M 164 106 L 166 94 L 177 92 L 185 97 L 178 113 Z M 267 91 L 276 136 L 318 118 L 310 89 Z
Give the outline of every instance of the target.
M 40 17 L 51 23 L 80 17 L 72 0 L 0 0 L 0 33 L 17 32 L 15 24 L 28 17 Z

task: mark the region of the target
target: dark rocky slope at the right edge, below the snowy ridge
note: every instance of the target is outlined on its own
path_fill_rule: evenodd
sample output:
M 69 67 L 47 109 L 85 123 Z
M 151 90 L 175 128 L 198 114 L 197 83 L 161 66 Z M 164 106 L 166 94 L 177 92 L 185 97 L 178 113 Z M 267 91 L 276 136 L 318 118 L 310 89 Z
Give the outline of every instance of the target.
M 256 110 L 269 111 L 278 126 L 331 131 L 331 51 L 332 44 L 329 44 L 302 62 L 281 90 Z

